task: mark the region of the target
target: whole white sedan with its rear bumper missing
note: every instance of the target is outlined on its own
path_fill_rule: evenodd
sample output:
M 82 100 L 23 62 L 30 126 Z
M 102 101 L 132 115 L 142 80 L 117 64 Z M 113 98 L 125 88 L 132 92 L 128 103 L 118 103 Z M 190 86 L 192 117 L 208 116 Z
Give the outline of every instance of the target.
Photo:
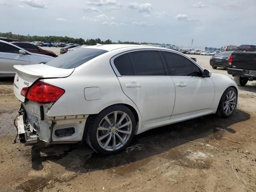
M 207 114 L 227 118 L 237 104 L 234 80 L 167 48 L 88 46 L 14 68 L 25 144 L 86 140 L 100 154 L 115 154 L 134 134 Z

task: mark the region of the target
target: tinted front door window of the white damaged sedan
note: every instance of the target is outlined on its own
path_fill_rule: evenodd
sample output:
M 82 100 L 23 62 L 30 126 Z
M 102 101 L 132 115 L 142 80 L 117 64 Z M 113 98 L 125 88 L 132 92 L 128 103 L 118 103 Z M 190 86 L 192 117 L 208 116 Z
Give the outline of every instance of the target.
M 202 76 L 202 72 L 196 64 L 188 58 L 171 52 L 162 51 L 168 71 L 172 76 Z

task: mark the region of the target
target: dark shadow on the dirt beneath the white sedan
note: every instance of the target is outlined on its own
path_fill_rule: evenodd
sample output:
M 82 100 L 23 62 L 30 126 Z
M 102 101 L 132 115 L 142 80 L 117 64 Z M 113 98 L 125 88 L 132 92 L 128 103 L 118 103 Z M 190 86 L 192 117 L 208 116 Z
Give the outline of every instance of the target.
M 45 148 L 42 143 L 32 147 L 32 168 L 42 170 L 43 162 L 54 162 L 73 172 L 92 172 L 146 160 L 150 156 L 162 154 L 186 142 L 203 138 L 201 142 L 208 144 L 210 140 L 221 140 L 223 133 L 236 133 L 228 128 L 232 124 L 250 119 L 250 114 L 236 110 L 232 117 L 223 119 L 208 115 L 185 122 L 163 126 L 134 136 L 132 144 L 123 152 L 100 156 L 86 144 L 59 144 Z M 224 131 L 221 131 L 224 130 Z

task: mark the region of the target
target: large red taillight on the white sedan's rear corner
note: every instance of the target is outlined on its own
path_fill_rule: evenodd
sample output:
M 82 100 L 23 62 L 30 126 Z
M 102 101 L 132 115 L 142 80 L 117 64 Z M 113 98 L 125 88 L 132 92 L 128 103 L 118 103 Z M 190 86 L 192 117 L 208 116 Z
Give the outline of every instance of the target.
M 65 90 L 62 88 L 38 81 L 29 88 L 27 99 L 40 103 L 55 102 L 64 93 Z

